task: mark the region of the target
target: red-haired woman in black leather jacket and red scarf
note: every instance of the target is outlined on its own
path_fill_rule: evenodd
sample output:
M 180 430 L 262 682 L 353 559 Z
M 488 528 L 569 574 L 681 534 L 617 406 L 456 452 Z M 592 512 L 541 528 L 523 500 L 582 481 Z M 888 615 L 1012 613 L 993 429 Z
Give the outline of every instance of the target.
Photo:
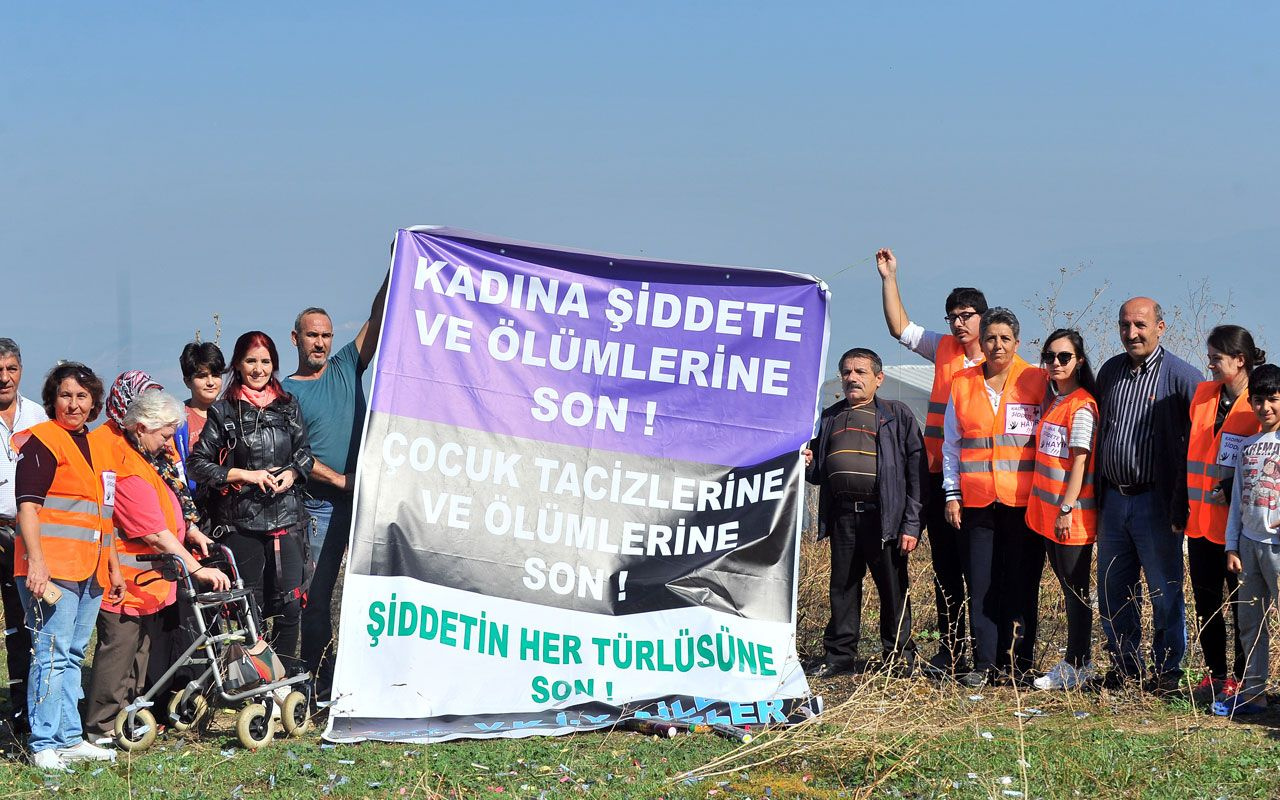
M 273 622 L 268 640 L 276 653 L 297 657 L 306 559 L 298 489 L 315 460 L 298 403 L 276 376 L 279 364 L 261 330 L 236 340 L 227 387 L 209 408 L 187 471 L 206 498 L 212 532 Z

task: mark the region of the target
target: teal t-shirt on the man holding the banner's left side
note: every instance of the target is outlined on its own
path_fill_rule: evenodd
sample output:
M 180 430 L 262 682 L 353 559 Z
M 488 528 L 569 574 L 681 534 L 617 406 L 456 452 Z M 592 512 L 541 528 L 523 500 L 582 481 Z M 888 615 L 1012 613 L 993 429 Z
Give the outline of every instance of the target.
M 329 357 L 329 366 L 315 380 L 284 379 L 284 390 L 302 407 L 311 452 L 338 472 L 356 468 L 360 431 L 365 425 L 365 385 L 360 376 L 360 351 L 351 342 Z

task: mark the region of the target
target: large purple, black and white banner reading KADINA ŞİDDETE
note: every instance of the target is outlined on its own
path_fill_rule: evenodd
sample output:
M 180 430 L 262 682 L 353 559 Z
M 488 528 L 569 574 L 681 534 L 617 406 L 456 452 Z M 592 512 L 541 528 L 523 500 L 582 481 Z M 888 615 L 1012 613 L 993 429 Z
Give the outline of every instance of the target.
M 806 716 L 827 301 L 794 273 L 401 230 L 326 737 Z

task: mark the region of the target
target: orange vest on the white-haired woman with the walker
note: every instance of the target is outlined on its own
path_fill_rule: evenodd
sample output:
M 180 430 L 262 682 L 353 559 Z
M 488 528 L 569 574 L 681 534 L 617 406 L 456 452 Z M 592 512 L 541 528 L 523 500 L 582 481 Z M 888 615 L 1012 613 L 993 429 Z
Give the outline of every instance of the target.
M 169 488 L 165 485 L 155 467 L 147 463 L 128 439 L 119 433 L 114 422 L 102 426 L 111 430 L 118 463 L 118 480 L 125 477 L 141 477 L 156 493 L 160 511 L 164 513 L 165 529 L 173 535 L 178 535 L 178 518 L 173 512 L 173 500 L 169 499 Z M 119 604 L 102 603 L 102 611 L 113 613 L 128 613 L 129 616 L 154 614 L 169 605 L 177 598 L 177 586 L 160 577 L 159 563 L 138 561 L 138 556 L 157 553 L 154 547 L 141 539 L 129 539 L 116 529 L 115 539 L 116 556 L 120 559 L 120 573 L 124 576 L 124 600 Z M 141 579 L 141 582 L 140 582 Z

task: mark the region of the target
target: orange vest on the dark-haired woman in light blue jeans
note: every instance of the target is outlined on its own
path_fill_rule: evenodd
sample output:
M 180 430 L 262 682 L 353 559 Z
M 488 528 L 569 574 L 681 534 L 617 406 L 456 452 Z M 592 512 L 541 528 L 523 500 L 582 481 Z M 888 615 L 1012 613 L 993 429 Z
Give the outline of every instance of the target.
M 40 549 L 49 576 L 64 581 L 96 577 L 110 586 L 108 561 L 113 547 L 111 512 L 115 504 L 115 453 L 110 440 L 93 430 L 88 434 L 92 466 L 84 461 L 72 435 L 50 420 L 14 434 L 14 449 L 31 439 L 52 453 L 58 467 L 40 507 Z M 27 545 L 18 536 L 14 547 L 14 575 L 27 575 Z

